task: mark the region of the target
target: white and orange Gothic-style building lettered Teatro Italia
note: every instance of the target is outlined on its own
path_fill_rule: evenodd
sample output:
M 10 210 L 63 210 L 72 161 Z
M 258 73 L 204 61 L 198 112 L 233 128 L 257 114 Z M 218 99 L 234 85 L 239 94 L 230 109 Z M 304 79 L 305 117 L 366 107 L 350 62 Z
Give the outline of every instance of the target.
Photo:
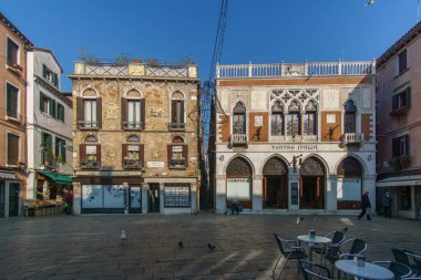
M 374 62 L 218 65 L 209 141 L 216 212 L 376 207 Z

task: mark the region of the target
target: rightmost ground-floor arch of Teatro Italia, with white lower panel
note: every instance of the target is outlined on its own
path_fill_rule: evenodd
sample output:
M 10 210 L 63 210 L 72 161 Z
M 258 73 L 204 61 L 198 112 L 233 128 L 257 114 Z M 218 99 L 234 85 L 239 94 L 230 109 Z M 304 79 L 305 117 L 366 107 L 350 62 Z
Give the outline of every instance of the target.
M 361 164 L 348 156 L 339 164 L 337 175 L 337 208 L 359 209 L 362 193 Z

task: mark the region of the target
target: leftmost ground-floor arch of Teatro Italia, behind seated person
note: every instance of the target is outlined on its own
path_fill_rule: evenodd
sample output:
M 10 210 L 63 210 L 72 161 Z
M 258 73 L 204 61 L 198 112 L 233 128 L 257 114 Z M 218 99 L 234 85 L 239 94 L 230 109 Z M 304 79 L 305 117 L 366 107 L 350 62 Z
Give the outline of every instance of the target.
M 253 169 L 249 163 L 243 157 L 234 158 L 227 166 L 227 208 L 236 199 L 243 207 L 251 208 L 251 175 Z

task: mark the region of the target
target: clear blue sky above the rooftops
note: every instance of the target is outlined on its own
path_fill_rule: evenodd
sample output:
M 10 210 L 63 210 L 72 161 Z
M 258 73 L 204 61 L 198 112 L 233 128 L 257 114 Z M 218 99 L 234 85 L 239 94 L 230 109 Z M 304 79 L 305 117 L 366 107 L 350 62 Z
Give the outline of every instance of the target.
M 228 0 L 222 63 L 371 60 L 417 22 L 417 0 Z M 73 72 L 81 48 L 113 59 L 191 56 L 206 80 L 220 0 L 0 0 L 35 46 Z M 63 90 L 71 82 L 63 79 Z

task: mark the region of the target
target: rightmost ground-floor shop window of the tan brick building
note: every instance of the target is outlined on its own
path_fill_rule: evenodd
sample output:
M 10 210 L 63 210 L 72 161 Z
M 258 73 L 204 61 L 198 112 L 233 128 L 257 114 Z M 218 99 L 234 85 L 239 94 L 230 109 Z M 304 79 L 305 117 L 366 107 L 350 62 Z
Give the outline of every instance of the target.
M 165 184 L 164 186 L 165 208 L 189 208 L 191 188 L 184 184 Z

